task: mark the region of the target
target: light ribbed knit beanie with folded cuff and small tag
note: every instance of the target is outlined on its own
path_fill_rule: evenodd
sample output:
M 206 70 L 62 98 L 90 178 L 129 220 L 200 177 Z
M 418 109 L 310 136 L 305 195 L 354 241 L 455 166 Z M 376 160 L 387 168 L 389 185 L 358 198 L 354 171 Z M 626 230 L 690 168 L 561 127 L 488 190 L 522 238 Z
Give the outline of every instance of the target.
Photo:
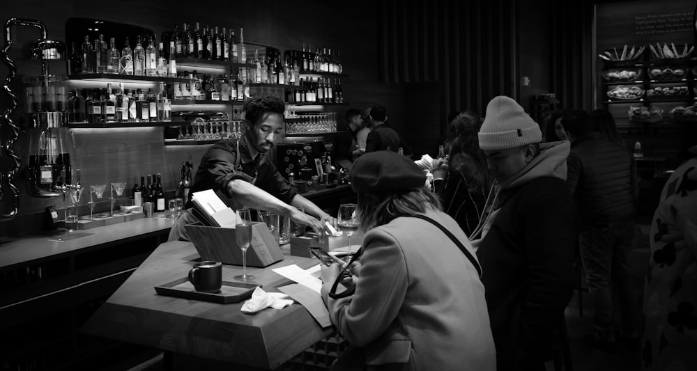
M 507 150 L 541 141 L 539 125 L 515 100 L 500 95 L 489 102 L 479 132 L 482 150 Z

